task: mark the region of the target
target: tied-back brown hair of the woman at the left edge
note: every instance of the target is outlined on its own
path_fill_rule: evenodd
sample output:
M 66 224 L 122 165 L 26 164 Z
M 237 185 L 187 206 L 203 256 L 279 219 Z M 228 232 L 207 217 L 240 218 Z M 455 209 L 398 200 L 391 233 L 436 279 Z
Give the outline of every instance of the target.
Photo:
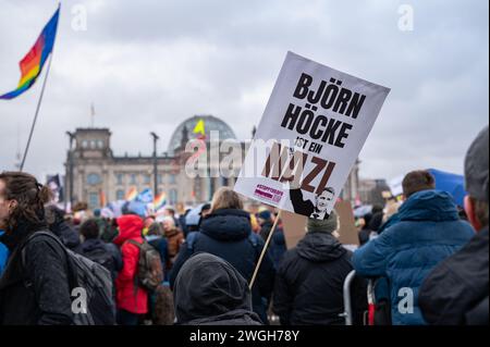
M 51 200 L 49 187 L 39 184 L 33 175 L 24 172 L 2 172 L 0 179 L 5 184 L 3 196 L 17 201 L 7 220 L 7 233 L 12 233 L 20 220 L 30 224 L 45 223 L 45 203 Z

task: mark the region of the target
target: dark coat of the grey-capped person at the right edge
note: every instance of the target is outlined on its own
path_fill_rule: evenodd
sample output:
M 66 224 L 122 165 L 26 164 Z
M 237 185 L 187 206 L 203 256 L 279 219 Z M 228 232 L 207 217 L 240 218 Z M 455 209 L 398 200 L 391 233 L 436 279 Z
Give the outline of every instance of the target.
M 424 281 L 418 302 L 430 324 L 488 324 L 488 226 Z

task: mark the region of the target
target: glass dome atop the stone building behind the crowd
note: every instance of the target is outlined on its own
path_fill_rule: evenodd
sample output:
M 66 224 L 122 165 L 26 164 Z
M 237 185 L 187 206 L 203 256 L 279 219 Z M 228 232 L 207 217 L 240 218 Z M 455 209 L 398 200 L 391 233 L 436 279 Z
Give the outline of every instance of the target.
M 196 126 L 200 121 L 203 121 L 204 124 L 206 138 L 209 139 L 211 132 L 219 132 L 220 140 L 229 138 L 236 139 L 235 133 L 232 131 L 232 128 L 220 119 L 212 115 L 195 115 L 179 124 L 176 129 L 173 132 L 169 144 L 170 153 L 173 153 L 174 150 L 181 146 L 182 137 L 184 134 L 184 127 L 187 131 L 188 139 L 197 138 L 201 135 L 194 132 L 194 129 L 196 129 Z

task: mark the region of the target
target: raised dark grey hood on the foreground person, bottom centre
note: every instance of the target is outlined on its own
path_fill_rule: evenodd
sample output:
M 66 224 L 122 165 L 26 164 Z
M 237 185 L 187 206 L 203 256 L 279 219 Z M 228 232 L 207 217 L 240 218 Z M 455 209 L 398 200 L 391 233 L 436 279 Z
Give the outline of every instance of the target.
M 231 311 L 252 312 L 245 278 L 229 262 L 210 253 L 197 253 L 184 263 L 173 297 L 179 324 L 209 322 Z

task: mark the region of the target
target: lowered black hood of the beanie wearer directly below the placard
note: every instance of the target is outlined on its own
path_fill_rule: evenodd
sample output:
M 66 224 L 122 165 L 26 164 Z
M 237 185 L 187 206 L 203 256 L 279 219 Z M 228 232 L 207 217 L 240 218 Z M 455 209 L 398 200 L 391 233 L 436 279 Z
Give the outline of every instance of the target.
M 347 251 L 329 233 L 306 233 L 296 249 L 299 257 L 314 262 L 332 261 L 341 258 Z

